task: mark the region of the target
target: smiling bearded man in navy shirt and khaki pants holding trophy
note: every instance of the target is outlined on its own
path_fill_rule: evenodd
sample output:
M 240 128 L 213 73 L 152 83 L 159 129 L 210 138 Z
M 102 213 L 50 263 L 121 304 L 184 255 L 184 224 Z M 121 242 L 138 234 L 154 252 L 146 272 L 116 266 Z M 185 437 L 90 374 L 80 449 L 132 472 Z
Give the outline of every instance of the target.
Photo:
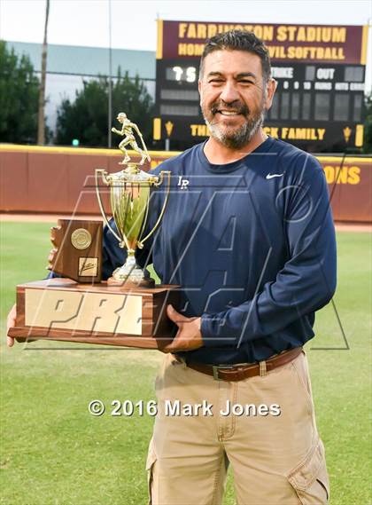
M 156 380 L 152 505 L 220 504 L 229 463 L 239 505 L 329 498 L 304 343 L 336 288 L 322 167 L 262 130 L 275 94 L 265 45 L 230 31 L 205 44 L 200 105 L 210 138 L 171 170 L 162 225 L 138 255 L 182 287 Z M 151 195 L 152 222 L 165 193 Z M 122 250 L 105 230 L 105 275 Z

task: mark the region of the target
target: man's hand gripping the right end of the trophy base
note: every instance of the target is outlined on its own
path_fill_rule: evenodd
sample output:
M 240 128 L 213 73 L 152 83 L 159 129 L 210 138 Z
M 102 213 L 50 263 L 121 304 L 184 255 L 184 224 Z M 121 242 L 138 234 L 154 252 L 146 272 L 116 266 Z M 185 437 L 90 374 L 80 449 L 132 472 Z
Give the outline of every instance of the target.
M 178 326 L 178 332 L 173 342 L 166 345 L 161 351 L 193 351 L 203 346 L 203 339 L 199 329 L 200 318 L 182 316 L 172 305 L 167 306 L 167 316 Z

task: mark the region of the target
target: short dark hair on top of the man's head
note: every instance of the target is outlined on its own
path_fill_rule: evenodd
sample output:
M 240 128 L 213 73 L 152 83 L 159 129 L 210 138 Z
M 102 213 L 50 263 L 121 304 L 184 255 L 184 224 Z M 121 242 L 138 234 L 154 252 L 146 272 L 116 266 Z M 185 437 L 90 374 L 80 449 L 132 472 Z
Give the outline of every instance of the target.
M 213 51 L 247 51 L 257 54 L 261 60 L 262 75 L 265 81 L 271 77 L 270 57 L 265 44 L 254 35 L 253 32 L 243 30 L 229 30 L 229 32 L 217 34 L 205 43 L 205 48 L 200 59 L 199 75 L 203 75 L 203 63 L 205 57 Z

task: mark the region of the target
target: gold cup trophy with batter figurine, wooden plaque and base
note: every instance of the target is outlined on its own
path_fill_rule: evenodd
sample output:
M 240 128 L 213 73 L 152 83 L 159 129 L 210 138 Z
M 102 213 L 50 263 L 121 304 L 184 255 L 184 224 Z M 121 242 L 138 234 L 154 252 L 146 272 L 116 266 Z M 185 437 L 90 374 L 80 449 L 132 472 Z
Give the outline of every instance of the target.
M 39 338 L 69 342 L 105 343 L 161 349 L 175 334 L 174 323 L 167 318 L 167 304 L 177 304 L 178 286 L 155 286 L 136 264 L 136 249 L 142 249 L 160 225 L 170 193 L 170 172 L 151 175 L 140 166 L 150 162 L 150 155 L 135 123 L 124 113 L 118 114 L 123 137 L 119 148 L 124 154 L 116 173 L 96 170 L 96 193 L 102 216 L 120 248 L 127 249 L 127 260 L 107 281 L 101 280 L 102 226 L 99 223 L 59 220 L 51 229 L 57 253 L 49 268 L 62 278 L 28 282 L 17 287 L 17 320 L 8 335 L 18 341 Z M 138 146 L 135 134 L 141 139 Z M 126 146 L 141 156 L 131 161 Z M 109 188 L 113 221 L 106 217 L 99 190 L 102 181 Z M 150 231 L 151 186 L 167 184 L 167 193 Z M 143 236 L 144 235 L 144 236 Z

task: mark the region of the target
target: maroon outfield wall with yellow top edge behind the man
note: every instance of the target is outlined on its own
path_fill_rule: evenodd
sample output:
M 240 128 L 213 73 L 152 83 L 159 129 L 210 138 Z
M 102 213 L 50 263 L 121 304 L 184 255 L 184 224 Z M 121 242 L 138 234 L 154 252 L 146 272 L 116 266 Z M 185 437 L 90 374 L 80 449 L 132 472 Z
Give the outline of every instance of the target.
M 176 153 L 150 154 L 154 167 Z M 94 171 L 118 171 L 121 159 L 117 149 L 0 145 L 0 212 L 98 215 Z M 370 223 L 372 158 L 318 159 L 329 183 L 335 220 Z

